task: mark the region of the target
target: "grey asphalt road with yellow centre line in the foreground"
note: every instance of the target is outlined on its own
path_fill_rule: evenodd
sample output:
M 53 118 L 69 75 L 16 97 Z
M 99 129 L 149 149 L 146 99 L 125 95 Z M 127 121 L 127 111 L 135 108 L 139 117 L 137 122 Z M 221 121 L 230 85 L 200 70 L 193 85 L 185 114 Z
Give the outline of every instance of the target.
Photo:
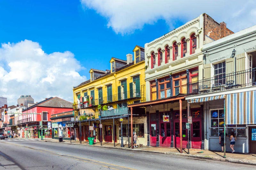
M 0 169 L 256 169 L 256 166 L 38 140 L 0 140 Z

